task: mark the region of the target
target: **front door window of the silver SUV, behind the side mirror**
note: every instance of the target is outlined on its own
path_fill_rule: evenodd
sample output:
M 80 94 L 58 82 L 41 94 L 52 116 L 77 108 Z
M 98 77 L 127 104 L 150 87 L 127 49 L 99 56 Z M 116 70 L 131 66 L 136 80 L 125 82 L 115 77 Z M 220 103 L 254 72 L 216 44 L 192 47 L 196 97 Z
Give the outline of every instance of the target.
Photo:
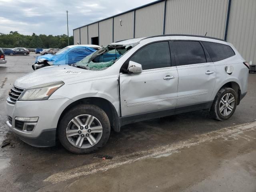
M 143 70 L 164 68 L 171 66 L 170 48 L 167 41 L 156 42 L 138 50 L 130 61 L 142 65 Z

